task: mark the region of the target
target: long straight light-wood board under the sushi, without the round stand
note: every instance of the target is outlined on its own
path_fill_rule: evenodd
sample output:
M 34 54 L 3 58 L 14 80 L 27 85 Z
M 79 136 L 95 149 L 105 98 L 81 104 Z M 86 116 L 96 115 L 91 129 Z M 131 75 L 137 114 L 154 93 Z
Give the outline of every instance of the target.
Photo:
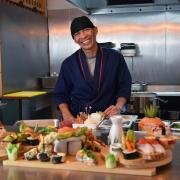
M 89 166 L 85 163 L 75 160 L 74 156 L 68 156 L 65 163 L 52 164 L 50 162 L 40 162 L 38 160 L 27 161 L 3 161 L 3 166 L 19 166 L 19 167 L 31 167 L 31 168 L 47 168 L 47 169 L 60 169 L 60 170 L 73 170 L 73 171 L 86 171 L 97 173 L 113 173 L 113 174 L 129 174 L 139 176 L 153 176 L 156 174 L 156 168 L 144 168 L 144 169 L 127 169 L 125 167 L 117 167 L 114 169 L 107 169 L 104 164 L 104 160 L 99 160 L 97 166 Z

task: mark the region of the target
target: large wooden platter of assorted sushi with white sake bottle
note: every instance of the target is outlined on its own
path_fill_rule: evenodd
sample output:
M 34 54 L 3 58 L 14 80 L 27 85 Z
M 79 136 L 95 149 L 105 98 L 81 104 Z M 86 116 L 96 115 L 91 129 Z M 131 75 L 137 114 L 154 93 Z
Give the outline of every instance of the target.
M 91 128 L 58 128 L 54 121 L 32 127 L 20 122 L 19 132 L 1 138 L 7 142 L 4 154 L 0 152 L 3 166 L 153 176 L 158 167 L 171 163 L 177 140 L 172 134 L 163 135 L 162 129 L 155 128 L 154 134 L 137 138 L 132 129 L 124 130 L 120 120 L 119 116 L 111 118 L 109 145 L 97 139 Z

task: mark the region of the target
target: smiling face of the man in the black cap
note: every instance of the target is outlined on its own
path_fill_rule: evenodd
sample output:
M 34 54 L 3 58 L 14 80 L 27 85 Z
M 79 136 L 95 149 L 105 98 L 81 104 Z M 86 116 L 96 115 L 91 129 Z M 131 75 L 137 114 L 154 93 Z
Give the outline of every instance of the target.
M 83 50 L 92 50 L 96 45 L 97 28 L 86 28 L 74 34 L 74 41 Z

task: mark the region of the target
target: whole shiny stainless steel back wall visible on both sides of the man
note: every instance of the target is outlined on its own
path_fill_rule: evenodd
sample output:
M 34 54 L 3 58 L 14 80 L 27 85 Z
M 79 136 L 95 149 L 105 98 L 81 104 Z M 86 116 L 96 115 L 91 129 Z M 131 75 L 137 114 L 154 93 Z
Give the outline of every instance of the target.
M 78 10 L 49 11 L 50 66 L 59 72 L 61 62 L 78 46 L 73 42 L 71 19 L 82 15 Z M 141 12 L 96 14 L 89 16 L 98 26 L 98 42 L 135 43 L 137 56 L 125 57 L 133 82 L 180 84 L 180 12 Z

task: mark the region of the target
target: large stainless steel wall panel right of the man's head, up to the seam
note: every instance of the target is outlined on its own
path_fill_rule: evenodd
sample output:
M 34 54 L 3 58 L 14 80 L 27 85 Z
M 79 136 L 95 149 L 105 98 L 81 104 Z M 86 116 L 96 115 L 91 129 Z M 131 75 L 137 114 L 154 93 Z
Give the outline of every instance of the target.
M 163 82 L 165 29 L 163 13 L 131 13 L 93 16 L 99 27 L 98 41 L 135 43 L 136 57 L 125 57 L 133 81 Z M 159 71 L 161 67 L 161 72 Z

